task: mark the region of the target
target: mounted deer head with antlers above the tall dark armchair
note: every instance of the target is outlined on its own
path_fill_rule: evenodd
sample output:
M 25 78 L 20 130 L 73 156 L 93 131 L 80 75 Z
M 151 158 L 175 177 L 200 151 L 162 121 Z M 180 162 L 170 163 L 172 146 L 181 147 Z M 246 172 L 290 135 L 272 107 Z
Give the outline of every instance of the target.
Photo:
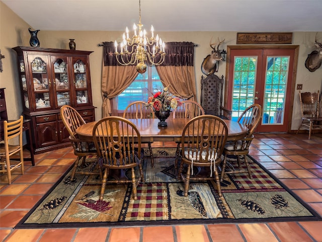
M 225 39 L 219 41 L 218 38 L 218 43 L 211 43 L 211 40 L 209 44 L 213 50 L 211 51 L 211 54 L 208 54 L 206 58 L 203 59 L 203 62 L 201 64 L 201 71 L 203 74 L 207 76 L 214 74 L 215 72 L 218 72 L 218 62 L 222 61 L 221 50 L 219 49 L 219 45 L 225 41 Z M 216 44 L 218 44 L 217 49 Z

